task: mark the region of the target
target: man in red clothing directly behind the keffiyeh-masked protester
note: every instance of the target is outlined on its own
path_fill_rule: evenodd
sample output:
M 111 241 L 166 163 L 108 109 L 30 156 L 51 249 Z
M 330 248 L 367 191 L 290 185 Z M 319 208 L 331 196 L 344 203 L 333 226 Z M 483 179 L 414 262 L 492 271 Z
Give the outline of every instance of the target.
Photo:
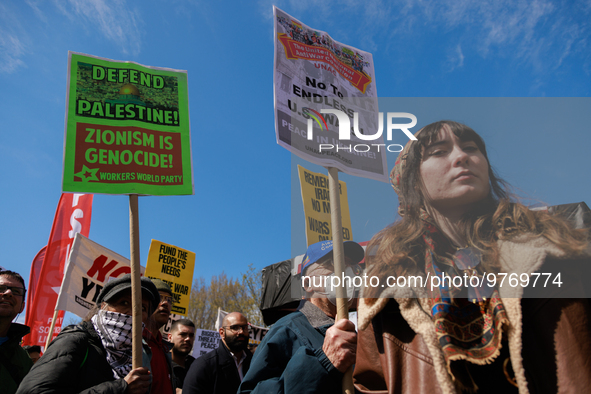
M 170 286 L 160 280 L 152 279 L 152 282 L 160 294 L 160 303 L 156 311 L 148 319 L 148 324 L 142 333 L 142 336 L 152 350 L 152 394 L 173 394 L 175 388 L 173 385 L 172 358 L 170 356 L 170 346 L 167 341 L 162 339 L 160 328 L 168 323 L 168 317 L 172 309 L 172 290 Z

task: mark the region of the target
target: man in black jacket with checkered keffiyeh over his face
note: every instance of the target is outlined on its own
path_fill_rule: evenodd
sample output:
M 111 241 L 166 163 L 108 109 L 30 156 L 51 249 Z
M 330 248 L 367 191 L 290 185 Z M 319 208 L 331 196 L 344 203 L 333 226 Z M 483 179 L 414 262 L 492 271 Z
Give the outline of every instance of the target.
M 141 279 L 142 322 L 160 300 L 148 278 Z M 100 307 L 100 309 L 99 309 Z M 146 394 L 150 388 L 150 348 L 142 365 L 131 362 L 131 277 L 109 282 L 97 299 L 96 313 L 68 326 L 49 344 L 23 379 L 17 394 Z

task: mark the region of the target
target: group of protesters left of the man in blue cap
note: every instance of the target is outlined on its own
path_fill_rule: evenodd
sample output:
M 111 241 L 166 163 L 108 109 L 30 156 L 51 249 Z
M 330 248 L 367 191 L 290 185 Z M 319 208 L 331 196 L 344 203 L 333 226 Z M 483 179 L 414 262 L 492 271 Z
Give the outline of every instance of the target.
M 172 309 L 170 286 L 142 277 L 141 290 L 142 366 L 134 369 L 129 274 L 108 282 L 82 322 L 65 327 L 41 354 L 40 346 L 20 346 L 30 329 L 13 322 L 24 310 L 24 280 L 16 272 L 0 271 L 2 393 L 236 392 L 253 354 L 246 317 L 228 314 L 218 348 L 195 359 L 190 355 L 195 342 L 191 320 L 174 321 L 167 340 L 161 333 Z

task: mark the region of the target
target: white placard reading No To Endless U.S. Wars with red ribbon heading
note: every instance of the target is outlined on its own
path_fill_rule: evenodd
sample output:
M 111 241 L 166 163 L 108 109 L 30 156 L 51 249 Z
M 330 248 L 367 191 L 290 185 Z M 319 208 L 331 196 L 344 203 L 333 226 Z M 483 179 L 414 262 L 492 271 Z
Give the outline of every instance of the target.
M 311 163 L 388 182 L 382 133 L 391 130 L 378 114 L 372 54 L 276 7 L 273 19 L 277 143 Z M 340 138 L 340 126 L 350 139 Z

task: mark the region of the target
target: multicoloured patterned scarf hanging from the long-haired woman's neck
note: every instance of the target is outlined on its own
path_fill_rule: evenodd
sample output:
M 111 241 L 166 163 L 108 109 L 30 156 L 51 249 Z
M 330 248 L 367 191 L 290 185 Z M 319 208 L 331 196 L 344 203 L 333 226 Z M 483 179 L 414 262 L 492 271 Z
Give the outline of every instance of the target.
M 484 274 L 480 253 L 474 248 L 455 249 L 424 211 L 421 220 L 426 230 L 425 273 L 438 276 L 445 284 L 427 287 L 431 316 L 448 369 L 456 378 L 463 372 L 460 365 L 452 367 L 452 361 L 485 365 L 495 360 L 504 326 L 510 323 L 498 290 L 488 288 L 486 280 L 480 287 L 475 285 L 476 278 L 470 281 L 472 276 L 481 279 Z M 443 281 L 445 277 L 448 279 Z

